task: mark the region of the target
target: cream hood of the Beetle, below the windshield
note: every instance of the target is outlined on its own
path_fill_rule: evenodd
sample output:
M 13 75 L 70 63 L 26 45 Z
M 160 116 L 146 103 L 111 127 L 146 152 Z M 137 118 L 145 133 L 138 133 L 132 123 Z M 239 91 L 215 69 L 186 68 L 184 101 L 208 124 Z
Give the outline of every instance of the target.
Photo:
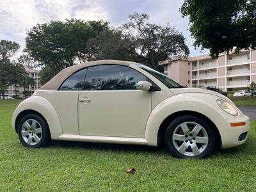
M 181 94 L 181 93 L 206 93 L 206 94 L 215 95 L 217 97 L 221 97 L 222 99 L 225 99 L 225 100 L 229 100 L 227 97 L 225 97 L 224 95 L 221 95 L 218 92 L 213 92 L 211 90 L 205 90 L 201 88 L 171 88 L 170 91 L 174 95 Z

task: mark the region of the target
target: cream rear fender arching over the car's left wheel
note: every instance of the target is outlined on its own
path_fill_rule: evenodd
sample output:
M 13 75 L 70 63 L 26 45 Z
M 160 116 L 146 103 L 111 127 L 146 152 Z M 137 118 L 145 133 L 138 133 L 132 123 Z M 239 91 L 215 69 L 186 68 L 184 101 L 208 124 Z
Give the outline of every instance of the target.
M 49 125 L 49 129 L 51 132 L 52 140 L 58 140 L 58 137 L 62 134 L 60 119 L 55 109 L 52 107 L 51 103 L 40 96 L 32 96 L 26 100 L 20 102 L 19 106 L 15 109 L 12 116 L 12 127 L 15 129 L 15 122 L 17 116 L 26 110 L 33 110 L 40 113 L 44 116 L 47 124 Z

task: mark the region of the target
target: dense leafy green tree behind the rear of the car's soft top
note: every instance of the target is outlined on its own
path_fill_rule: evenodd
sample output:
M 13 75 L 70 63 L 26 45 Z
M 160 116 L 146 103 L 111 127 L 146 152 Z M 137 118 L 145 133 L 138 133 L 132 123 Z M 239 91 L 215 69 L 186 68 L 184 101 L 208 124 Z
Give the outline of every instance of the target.
M 108 28 L 108 22 L 102 20 L 52 20 L 49 24 L 36 24 L 26 37 L 27 58 L 51 68 L 54 76 L 63 68 L 86 61 L 91 54 L 86 47 L 88 40 Z

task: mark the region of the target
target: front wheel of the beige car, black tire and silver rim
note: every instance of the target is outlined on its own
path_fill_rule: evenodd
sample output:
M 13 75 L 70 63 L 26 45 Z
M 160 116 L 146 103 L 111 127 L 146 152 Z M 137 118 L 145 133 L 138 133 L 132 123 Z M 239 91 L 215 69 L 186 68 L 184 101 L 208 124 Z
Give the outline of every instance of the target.
M 170 153 L 181 159 L 209 157 L 215 147 L 212 127 L 203 118 L 193 115 L 173 120 L 166 129 L 164 140 Z

